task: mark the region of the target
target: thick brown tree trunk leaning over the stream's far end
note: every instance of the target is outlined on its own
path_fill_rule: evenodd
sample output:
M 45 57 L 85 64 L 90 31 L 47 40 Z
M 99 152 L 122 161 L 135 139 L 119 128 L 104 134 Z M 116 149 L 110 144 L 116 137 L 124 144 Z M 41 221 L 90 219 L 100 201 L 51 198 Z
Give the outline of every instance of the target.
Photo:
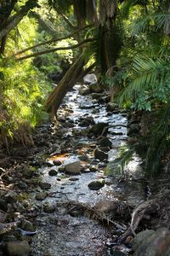
M 83 71 L 83 67 L 87 62 L 88 58 L 85 56 L 84 51 L 82 51 L 82 54 L 77 58 L 77 61 L 75 61 L 68 69 L 63 79 L 60 80 L 58 86 L 48 96 L 48 100 L 45 102 L 45 107 L 48 112 L 51 113 L 52 119 L 56 116 L 57 110 L 67 91 L 71 90 L 71 88 L 77 83 L 78 79 L 82 79 L 82 76 L 89 72 L 89 68 L 87 69 L 87 72 Z M 91 68 L 93 67 L 94 65 L 91 66 Z

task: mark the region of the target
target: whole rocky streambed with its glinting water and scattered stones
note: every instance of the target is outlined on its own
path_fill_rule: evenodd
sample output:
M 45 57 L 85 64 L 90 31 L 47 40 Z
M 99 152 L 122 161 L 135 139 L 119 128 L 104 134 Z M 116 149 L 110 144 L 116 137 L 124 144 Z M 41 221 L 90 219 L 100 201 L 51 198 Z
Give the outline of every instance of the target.
M 37 128 L 33 148 L 1 157 L 0 255 L 132 254 L 130 233 L 117 241 L 148 190 L 138 155 L 123 173 L 111 166 L 127 143 L 127 113 L 77 84 L 58 119 Z

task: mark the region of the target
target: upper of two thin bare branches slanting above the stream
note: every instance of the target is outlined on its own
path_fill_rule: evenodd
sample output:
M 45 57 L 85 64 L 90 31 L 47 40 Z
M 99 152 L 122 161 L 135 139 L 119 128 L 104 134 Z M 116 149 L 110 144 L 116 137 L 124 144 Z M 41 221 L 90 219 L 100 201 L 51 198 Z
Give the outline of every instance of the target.
M 48 41 L 45 41 L 45 42 L 42 42 L 42 43 L 40 43 L 40 44 L 35 44 L 35 45 L 30 46 L 30 47 L 27 47 L 26 49 L 21 49 L 20 51 L 17 51 L 14 55 L 20 55 L 20 54 L 26 52 L 27 50 L 37 48 L 37 47 L 42 46 L 42 45 L 44 45 L 44 44 L 52 44 L 52 43 L 54 43 L 54 42 L 58 42 L 58 41 L 65 40 L 65 39 L 67 39 L 67 38 L 71 38 L 71 37 L 73 37 L 75 34 L 77 34 L 78 32 L 80 32 L 80 31 L 82 31 L 82 30 L 84 30 L 84 29 L 86 29 L 86 28 L 88 28 L 88 27 L 90 27 L 90 26 L 91 26 L 91 25 L 84 26 L 82 29 L 78 29 L 77 31 L 75 31 L 75 32 L 73 32 L 73 33 L 71 33 L 70 35 L 67 35 L 67 36 L 65 36 L 65 37 L 62 37 L 62 38 L 52 38 L 52 39 L 50 39 L 50 40 L 48 40 Z

